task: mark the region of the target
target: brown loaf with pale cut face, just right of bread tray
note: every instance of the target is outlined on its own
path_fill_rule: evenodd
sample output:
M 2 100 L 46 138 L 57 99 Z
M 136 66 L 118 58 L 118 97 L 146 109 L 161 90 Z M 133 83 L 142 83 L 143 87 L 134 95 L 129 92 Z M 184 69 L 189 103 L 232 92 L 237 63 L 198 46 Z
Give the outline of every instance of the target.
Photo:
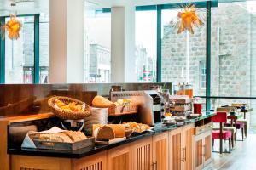
M 93 134 L 96 139 L 114 139 L 113 129 L 108 126 L 97 127 Z

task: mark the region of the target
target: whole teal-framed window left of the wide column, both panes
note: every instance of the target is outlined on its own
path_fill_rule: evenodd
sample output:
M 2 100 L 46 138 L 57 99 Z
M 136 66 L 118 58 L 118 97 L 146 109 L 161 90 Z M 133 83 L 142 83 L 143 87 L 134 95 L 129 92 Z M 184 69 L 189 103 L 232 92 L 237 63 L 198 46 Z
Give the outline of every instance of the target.
M 49 16 L 41 14 L 39 17 L 40 14 L 17 16 L 22 24 L 17 40 L 9 39 L 6 32 L 1 41 L 5 44 L 1 49 L 4 51 L 1 53 L 4 60 L 1 82 L 49 83 Z M 6 23 L 9 17 L 1 17 L 1 20 Z

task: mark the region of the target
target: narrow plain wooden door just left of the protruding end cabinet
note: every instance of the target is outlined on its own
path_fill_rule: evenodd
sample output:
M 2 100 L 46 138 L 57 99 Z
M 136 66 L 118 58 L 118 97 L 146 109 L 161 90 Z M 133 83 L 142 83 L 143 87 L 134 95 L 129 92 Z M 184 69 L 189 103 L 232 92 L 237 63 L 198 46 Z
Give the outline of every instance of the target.
M 194 124 L 189 124 L 183 127 L 183 158 L 184 163 L 183 169 L 192 170 L 193 169 L 193 147 L 194 147 L 194 134 L 195 134 Z

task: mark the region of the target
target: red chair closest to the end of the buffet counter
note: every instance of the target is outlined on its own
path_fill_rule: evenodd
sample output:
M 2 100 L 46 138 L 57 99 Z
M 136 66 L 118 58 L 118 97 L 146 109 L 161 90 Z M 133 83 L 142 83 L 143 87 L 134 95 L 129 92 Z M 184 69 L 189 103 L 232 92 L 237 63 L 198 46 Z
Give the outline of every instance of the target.
M 232 133 L 230 131 L 223 130 L 223 123 L 227 123 L 228 117 L 226 112 L 217 112 L 216 116 L 212 116 L 212 122 L 219 122 L 219 130 L 212 130 L 212 145 L 214 145 L 214 139 L 219 139 L 219 153 L 222 154 L 223 151 L 223 139 L 229 140 L 229 150 L 231 153 L 231 137 Z

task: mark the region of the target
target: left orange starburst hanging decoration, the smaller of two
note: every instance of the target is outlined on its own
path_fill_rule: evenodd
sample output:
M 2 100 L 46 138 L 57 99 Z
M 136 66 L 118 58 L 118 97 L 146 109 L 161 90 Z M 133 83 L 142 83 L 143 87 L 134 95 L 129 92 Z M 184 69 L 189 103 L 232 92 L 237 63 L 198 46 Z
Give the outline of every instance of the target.
M 10 15 L 10 20 L 2 26 L 3 32 L 8 31 L 8 37 L 12 40 L 16 40 L 20 37 L 21 23 L 16 18 L 16 14 Z

